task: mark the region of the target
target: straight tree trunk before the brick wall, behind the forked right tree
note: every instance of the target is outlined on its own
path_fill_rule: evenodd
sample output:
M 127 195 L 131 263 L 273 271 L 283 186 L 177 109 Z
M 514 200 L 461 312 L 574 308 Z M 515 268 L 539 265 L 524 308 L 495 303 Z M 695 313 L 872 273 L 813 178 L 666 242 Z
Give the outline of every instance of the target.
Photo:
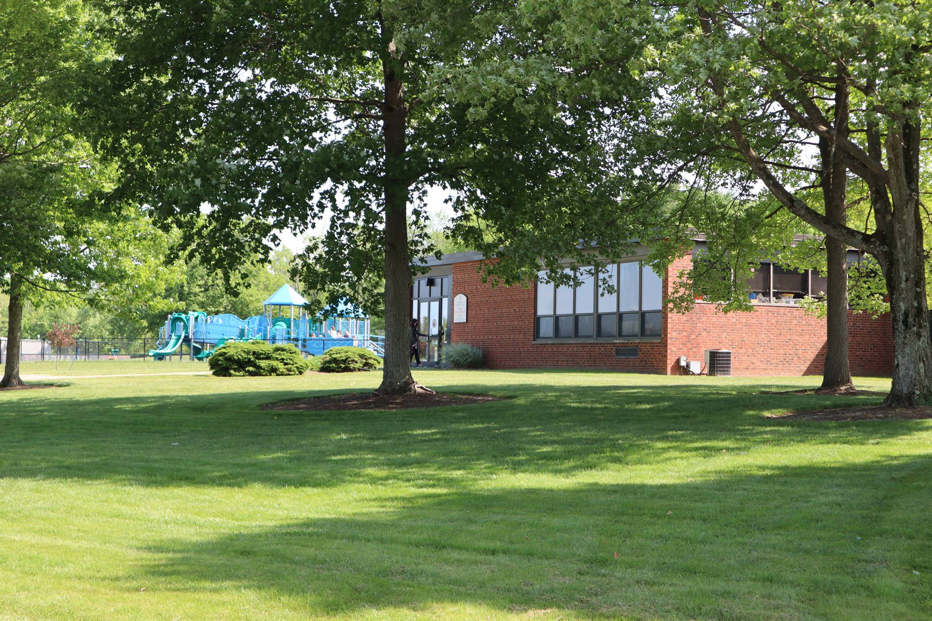
M 843 80 L 843 74 L 839 73 Z M 843 82 L 835 88 L 835 128 L 838 138 L 847 140 L 848 87 Z M 847 224 L 844 201 L 847 198 L 847 169 L 842 154 L 836 150 L 835 142 L 819 139 L 822 156 L 822 197 L 825 215 L 833 223 Z M 829 279 L 827 343 L 825 369 L 822 373 L 821 390 L 854 390 L 851 382 L 851 367 L 848 362 L 848 245 L 834 237 L 825 241 Z

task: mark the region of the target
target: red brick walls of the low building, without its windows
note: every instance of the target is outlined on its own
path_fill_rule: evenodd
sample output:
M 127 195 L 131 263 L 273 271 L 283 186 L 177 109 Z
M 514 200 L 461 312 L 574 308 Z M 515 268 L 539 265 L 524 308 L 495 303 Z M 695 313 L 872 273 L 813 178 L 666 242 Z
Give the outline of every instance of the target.
M 665 293 L 690 258 L 672 265 Z M 481 346 L 493 369 L 569 367 L 678 373 L 678 358 L 702 360 L 706 349 L 732 350 L 734 375 L 819 374 L 825 360 L 826 322 L 793 306 L 758 306 L 722 314 L 716 304 L 696 304 L 686 314 L 664 313 L 662 337 L 654 343 L 534 343 L 533 287 L 497 287 L 482 282 L 478 262 L 454 263 L 453 295 L 468 297 L 466 323 L 452 324 L 452 340 Z M 884 375 L 893 369 L 889 317 L 849 313 L 849 353 L 855 374 Z M 615 358 L 615 347 L 637 345 L 637 358 Z

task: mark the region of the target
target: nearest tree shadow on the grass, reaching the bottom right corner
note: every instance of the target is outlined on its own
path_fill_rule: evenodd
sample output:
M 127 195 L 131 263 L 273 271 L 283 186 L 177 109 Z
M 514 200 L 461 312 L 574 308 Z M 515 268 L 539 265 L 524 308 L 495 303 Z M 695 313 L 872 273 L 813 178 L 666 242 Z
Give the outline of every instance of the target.
M 157 559 L 140 579 L 221 598 L 271 591 L 320 615 L 467 604 L 584 618 L 928 618 L 930 477 L 922 456 L 670 484 L 419 493 L 164 541 L 146 550 Z

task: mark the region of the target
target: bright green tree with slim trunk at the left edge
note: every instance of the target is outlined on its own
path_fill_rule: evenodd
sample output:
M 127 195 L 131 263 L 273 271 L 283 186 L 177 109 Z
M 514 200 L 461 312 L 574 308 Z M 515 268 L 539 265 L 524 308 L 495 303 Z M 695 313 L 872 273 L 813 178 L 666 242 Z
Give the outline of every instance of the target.
M 8 294 L 0 387 L 22 384 L 25 301 L 129 301 L 158 280 L 160 240 L 144 210 L 96 200 L 116 171 L 75 133 L 79 75 L 105 52 L 92 36 L 95 16 L 77 0 L 0 5 L 0 290 Z

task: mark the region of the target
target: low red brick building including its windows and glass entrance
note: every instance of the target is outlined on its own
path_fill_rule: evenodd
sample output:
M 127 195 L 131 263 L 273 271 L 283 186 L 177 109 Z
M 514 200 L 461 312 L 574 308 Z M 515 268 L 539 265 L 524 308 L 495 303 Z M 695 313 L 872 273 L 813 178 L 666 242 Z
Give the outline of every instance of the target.
M 731 352 L 733 375 L 820 374 L 826 353 L 826 321 L 793 303 L 824 287 L 813 272 L 793 272 L 761 263 L 750 286 L 754 310 L 723 314 L 718 304 L 696 301 L 688 313 L 663 308 L 678 273 L 692 256 L 671 265 L 663 277 L 637 256 L 610 267 L 616 291 L 598 290 L 589 277 L 577 288 L 552 283 L 491 287 L 478 271 L 482 257 L 458 252 L 431 260 L 430 271 L 412 289 L 412 317 L 431 336 L 422 344 L 436 360 L 436 335 L 446 342 L 479 345 L 487 365 L 508 368 L 613 369 L 684 372 L 680 357 L 705 362 L 706 350 Z M 454 301 L 458 296 L 459 304 Z M 465 304 L 463 304 L 465 303 Z M 454 306 L 459 316 L 455 317 Z M 465 309 L 465 314 L 462 311 Z M 890 318 L 848 315 L 851 371 L 885 375 L 893 368 Z

